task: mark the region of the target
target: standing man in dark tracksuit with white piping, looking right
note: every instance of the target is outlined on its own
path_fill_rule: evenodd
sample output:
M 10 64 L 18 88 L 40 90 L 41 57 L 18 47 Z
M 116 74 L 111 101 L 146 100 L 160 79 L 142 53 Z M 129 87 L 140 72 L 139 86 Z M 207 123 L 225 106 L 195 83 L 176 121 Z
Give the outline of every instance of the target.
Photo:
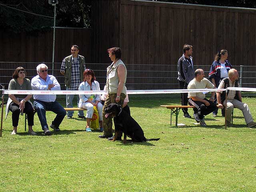
M 178 80 L 180 89 L 188 89 L 188 83 L 194 78 L 194 65 L 192 62 L 192 46 L 185 44 L 183 55 L 178 60 Z M 181 93 L 181 105 L 188 105 L 188 93 Z M 188 114 L 188 108 L 182 108 L 184 117 L 191 118 Z

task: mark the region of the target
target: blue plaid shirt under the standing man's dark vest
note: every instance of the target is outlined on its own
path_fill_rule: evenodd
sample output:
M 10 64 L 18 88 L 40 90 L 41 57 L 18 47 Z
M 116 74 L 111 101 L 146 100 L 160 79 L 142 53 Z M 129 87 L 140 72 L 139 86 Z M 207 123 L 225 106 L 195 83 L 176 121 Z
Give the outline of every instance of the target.
M 80 66 L 80 60 L 79 60 L 79 56 L 77 57 L 77 61 L 74 61 L 74 58 L 72 56 L 72 64 L 71 64 L 71 90 L 78 90 L 78 87 L 80 85 L 80 72 L 79 72 L 79 66 Z M 85 64 L 84 64 L 84 69 L 85 69 Z M 61 65 L 61 72 L 65 72 L 66 69 L 66 62 L 65 59 L 63 59 L 62 61 L 62 65 Z

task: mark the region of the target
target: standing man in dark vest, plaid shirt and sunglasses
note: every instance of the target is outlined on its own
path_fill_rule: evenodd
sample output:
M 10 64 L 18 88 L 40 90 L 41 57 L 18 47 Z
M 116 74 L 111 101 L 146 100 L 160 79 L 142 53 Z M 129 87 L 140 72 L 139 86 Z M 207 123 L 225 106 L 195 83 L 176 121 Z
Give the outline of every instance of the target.
M 79 47 L 71 46 L 71 55 L 63 59 L 60 73 L 65 76 L 66 90 L 78 90 L 80 83 L 84 80 L 83 72 L 86 68 L 84 56 L 78 55 Z M 73 107 L 74 95 L 66 95 L 67 108 Z M 79 95 L 76 95 L 79 102 Z M 78 106 L 78 104 L 77 104 Z M 67 118 L 72 118 L 74 111 L 67 112 Z M 78 118 L 86 119 L 84 111 L 78 111 Z

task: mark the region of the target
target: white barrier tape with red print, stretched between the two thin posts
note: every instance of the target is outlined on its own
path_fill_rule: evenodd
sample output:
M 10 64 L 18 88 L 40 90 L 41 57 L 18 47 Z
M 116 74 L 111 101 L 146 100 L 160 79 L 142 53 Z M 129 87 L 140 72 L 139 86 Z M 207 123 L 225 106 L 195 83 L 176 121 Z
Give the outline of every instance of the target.
M 127 94 L 163 94 L 163 93 L 188 93 L 188 92 L 213 92 L 226 89 L 171 89 L 171 90 L 128 90 Z M 76 94 L 104 94 L 106 91 L 43 91 L 43 90 L 5 90 L 4 94 L 36 94 L 36 95 L 76 95 Z

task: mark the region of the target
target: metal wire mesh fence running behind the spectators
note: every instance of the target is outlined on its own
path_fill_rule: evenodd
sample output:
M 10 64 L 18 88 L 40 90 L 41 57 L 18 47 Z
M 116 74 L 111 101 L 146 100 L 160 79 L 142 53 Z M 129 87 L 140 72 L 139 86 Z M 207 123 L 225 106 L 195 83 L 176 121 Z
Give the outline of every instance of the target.
M 26 78 L 30 80 L 37 75 L 36 66 L 39 62 L 0 62 L 0 84 L 8 89 L 8 84 L 12 79 L 14 70 L 22 66 L 26 70 Z M 64 76 L 60 74 L 61 63 L 45 63 L 48 66 L 48 74 L 54 75 L 65 89 Z M 96 80 L 103 89 L 106 83 L 106 68 L 110 64 L 86 63 L 86 67 L 94 70 Z M 194 66 L 195 69 L 202 68 L 208 78 L 209 65 Z M 54 70 L 52 70 L 54 68 Z M 128 90 L 160 90 L 179 89 L 177 80 L 176 65 L 150 65 L 150 64 L 126 64 Z M 256 86 L 256 66 L 233 66 L 239 72 L 240 85 L 242 87 L 255 88 Z M 253 92 L 243 92 L 243 96 L 254 96 Z M 138 95 L 136 95 L 138 96 Z M 153 95 L 150 95 L 153 96 Z M 154 96 L 170 96 L 170 94 L 154 94 Z M 176 94 L 177 96 L 177 94 Z

